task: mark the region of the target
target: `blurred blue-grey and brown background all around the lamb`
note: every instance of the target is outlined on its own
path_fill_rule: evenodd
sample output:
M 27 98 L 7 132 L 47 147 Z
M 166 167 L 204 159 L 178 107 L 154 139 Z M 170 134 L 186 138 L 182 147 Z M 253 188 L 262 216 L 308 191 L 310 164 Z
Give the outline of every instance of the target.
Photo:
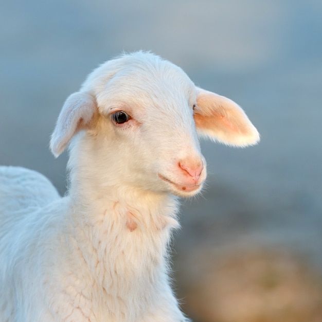
M 151 50 L 238 102 L 261 142 L 202 142 L 207 189 L 183 201 L 177 296 L 195 322 L 322 321 L 321 0 L 2 0 L 0 46 L 0 164 L 61 194 L 57 116 L 120 52 Z

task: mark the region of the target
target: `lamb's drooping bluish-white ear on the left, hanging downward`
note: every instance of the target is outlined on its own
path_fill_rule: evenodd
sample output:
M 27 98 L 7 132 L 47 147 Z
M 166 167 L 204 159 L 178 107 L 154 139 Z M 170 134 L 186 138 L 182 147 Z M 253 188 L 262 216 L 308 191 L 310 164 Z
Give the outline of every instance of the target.
M 65 150 L 79 130 L 86 127 L 96 110 L 96 100 L 88 93 L 76 92 L 66 99 L 50 139 L 50 150 L 55 157 Z

